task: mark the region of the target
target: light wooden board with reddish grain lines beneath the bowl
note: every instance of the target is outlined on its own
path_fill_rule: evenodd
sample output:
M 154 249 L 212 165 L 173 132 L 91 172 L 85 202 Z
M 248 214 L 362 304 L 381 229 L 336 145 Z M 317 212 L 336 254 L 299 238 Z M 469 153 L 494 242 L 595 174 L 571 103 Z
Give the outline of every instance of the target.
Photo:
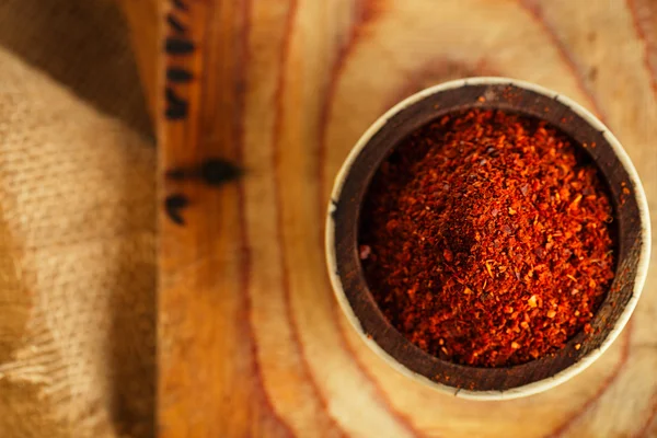
M 161 215 L 161 436 L 657 436 L 654 265 L 596 365 L 544 394 L 477 403 L 369 351 L 339 313 L 323 253 L 327 194 L 362 130 L 401 97 L 465 76 L 533 81 L 596 112 L 656 218 L 655 1 L 182 2 L 175 16 L 195 49 L 160 56 L 155 90 L 161 200 L 188 201 L 175 208 L 183 226 Z M 173 34 L 164 25 L 161 39 Z M 168 82 L 166 103 L 171 65 L 195 79 Z M 166 119 L 181 100 L 187 117 Z M 245 176 L 220 187 L 164 178 L 209 157 Z

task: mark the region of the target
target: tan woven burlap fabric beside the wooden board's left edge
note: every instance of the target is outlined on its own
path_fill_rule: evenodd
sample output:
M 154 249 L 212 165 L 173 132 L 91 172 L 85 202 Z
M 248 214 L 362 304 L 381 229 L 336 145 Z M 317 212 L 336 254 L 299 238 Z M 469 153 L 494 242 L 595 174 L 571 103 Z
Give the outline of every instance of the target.
M 100 0 L 0 2 L 0 437 L 147 437 L 154 154 Z

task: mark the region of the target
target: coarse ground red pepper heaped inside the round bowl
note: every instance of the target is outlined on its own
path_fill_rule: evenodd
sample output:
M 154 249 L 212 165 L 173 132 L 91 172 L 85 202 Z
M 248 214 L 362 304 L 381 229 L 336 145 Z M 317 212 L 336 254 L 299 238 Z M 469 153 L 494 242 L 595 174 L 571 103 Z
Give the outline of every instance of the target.
M 445 116 L 395 148 L 361 209 L 360 258 L 390 322 L 442 359 L 523 364 L 584 330 L 614 275 L 595 164 L 544 123 Z

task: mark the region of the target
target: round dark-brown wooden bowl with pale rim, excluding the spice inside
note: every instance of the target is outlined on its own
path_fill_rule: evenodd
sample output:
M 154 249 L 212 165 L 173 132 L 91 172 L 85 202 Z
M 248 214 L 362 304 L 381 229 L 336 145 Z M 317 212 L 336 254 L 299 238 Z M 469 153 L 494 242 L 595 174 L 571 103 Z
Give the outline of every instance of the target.
M 569 135 L 607 180 L 618 227 L 615 278 L 591 321 L 593 334 L 509 368 L 475 368 L 441 360 L 397 332 L 368 289 L 358 255 L 360 206 L 381 162 L 408 134 L 442 115 L 465 108 L 500 108 L 533 116 Z M 622 184 L 625 184 L 624 186 Z M 630 194 L 623 193 L 630 188 Z M 504 78 L 471 78 L 426 89 L 404 100 L 362 135 L 339 171 L 326 222 L 328 274 L 337 299 L 362 339 L 403 374 L 456 396 L 502 400 L 534 394 L 565 382 L 592 364 L 619 336 L 646 278 L 650 228 L 646 197 L 630 158 L 609 129 L 569 99 Z M 575 345 L 580 344 L 579 349 Z

